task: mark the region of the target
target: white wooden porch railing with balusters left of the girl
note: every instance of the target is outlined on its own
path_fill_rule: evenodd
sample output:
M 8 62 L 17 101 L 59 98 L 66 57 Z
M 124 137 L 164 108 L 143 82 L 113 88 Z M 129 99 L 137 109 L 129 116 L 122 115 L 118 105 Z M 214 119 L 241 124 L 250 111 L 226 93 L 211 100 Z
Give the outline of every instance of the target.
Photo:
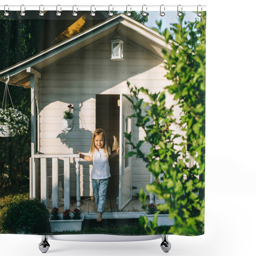
M 59 159 L 64 159 L 64 210 L 70 209 L 70 159 L 76 162 L 76 206 L 81 210 L 79 154 L 36 154 L 40 158 L 41 201 L 47 207 L 47 159 L 52 159 L 52 208 L 58 208 Z

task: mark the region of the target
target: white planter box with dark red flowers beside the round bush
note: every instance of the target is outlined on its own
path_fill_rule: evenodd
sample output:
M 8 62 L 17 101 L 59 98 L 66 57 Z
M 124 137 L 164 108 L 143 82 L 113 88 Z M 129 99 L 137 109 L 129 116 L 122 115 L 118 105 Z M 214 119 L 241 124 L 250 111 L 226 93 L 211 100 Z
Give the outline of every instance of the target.
M 49 221 L 52 232 L 81 231 L 84 214 L 81 214 L 79 209 L 74 209 L 73 212 L 70 212 L 70 210 L 67 209 L 60 214 L 58 208 L 53 208 Z

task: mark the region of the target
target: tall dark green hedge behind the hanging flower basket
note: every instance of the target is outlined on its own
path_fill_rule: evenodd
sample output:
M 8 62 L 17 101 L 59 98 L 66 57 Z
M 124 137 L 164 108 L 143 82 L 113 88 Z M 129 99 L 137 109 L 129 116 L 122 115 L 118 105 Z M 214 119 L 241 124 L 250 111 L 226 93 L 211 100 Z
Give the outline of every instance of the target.
M 20 12 L 10 12 L 8 17 L 0 14 L 0 70 L 8 68 L 37 53 L 39 42 L 39 19 L 21 18 Z M 33 36 L 32 36 L 33 35 Z M 0 83 L 0 94 L 4 95 L 4 83 Z M 10 86 L 13 105 L 30 119 L 30 90 L 21 86 Z M 2 100 L 2 99 L 0 99 Z M 2 101 L 0 102 L 2 105 Z M 11 104 L 7 99 L 7 105 Z M 29 156 L 31 152 L 31 128 L 28 133 L 0 141 L 0 188 L 1 193 L 28 191 Z

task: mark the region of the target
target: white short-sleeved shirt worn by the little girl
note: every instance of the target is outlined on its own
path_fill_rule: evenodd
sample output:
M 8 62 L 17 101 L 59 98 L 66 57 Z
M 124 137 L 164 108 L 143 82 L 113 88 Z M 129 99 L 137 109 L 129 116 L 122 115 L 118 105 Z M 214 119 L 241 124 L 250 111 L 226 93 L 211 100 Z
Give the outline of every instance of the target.
M 110 156 L 110 148 L 108 147 L 108 154 Z M 91 179 L 103 180 L 109 178 L 109 163 L 108 158 L 105 153 L 105 150 L 100 148 L 99 151 L 95 148 L 93 154 L 91 153 L 89 156 L 92 156 L 92 173 Z

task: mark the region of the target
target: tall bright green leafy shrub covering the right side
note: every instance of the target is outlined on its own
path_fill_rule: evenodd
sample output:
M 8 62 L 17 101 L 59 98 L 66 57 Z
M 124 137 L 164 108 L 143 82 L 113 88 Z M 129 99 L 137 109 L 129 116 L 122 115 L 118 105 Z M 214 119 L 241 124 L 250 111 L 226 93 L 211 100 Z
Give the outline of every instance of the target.
M 199 235 L 204 233 L 204 162 L 205 162 L 205 15 L 201 20 L 185 23 L 184 15 L 179 23 L 172 24 L 173 33 L 165 29 L 162 35 L 172 47 L 171 51 L 163 49 L 165 77 L 172 81 L 163 92 L 151 93 L 145 88 L 130 88 L 134 95 L 133 103 L 136 126 L 145 132 L 143 140 L 137 144 L 132 141 L 132 134 L 125 137 L 134 151 L 126 157 L 136 155 L 146 162 L 148 171 L 161 182 L 149 184 L 149 192 L 165 199 L 166 204 L 157 206 L 159 211 L 168 210 L 169 218 L 175 220 L 169 233 Z M 158 22 L 159 30 L 161 22 Z M 175 42 L 170 41 L 175 37 Z M 127 83 L 128 86 L 130 83 Z M 149 98 L 143 104 L 141 94 Z M 166 95 L 172 94 L 176 104 L 166 107 Z M 174 108 L 180 107 L 180 118 L 173 116 Z M 146 108 L 147 109 L 143 109 Z M 177 134 L 174 127 L 179 126 L 185 135 Z M 143 143 L 151 145 L 148 155 L 142 152 Z M 188 155 L 196 164 L 188 166 Z M 141 190 L 140 200 L 146 210 L 146 193 Z M 156 218 L 148 222 L 140 218 L 149 234 L 156 232 Z

